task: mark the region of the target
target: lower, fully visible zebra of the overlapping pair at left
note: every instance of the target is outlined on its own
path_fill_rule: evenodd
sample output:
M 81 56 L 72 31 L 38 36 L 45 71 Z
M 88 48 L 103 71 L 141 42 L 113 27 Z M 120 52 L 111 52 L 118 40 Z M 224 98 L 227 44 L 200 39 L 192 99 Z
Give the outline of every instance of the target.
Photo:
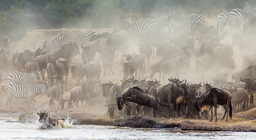
M 15 96 L 17 98 L 28 98 L 29 104 L 27 106 L 28 107 L 27 109 L 29 109 L 29 105 L 31 101 L 33 101 L 34 103 L 36 102 L 35 99 L 33 98 L 36 93 L 43 92 L 47 95 L 47 97 L 51 96 L 47 85 L 48 83 L 42 82 L 42 81 L 35 82 L 32 84 L 20 83 L 17 81 L 13 81 L 9 83 L 8 85 L 9 96 L 7 98 L 6 107 L 8 106 L 8 103 L 9 103 L 11 108 L 11 100 L 12 100 L 12 97 Z

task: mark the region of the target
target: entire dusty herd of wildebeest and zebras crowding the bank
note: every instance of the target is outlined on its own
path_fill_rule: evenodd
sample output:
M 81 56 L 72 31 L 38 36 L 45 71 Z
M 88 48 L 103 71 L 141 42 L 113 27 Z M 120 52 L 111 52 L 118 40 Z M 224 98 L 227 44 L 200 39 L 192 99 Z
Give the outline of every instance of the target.
M 234 15 L 239 11 L 242 12 Z M 217 121 L 217 105 L 222 105 L 231 118 L 232 110 L 245 111 L 248 104 L 250 108 L 254 105 L 256 9 L 246 2 L 242 9 L 226 13 L 227 17 L 225 12 L 216 17 L 216 28 L 207 24 L 202 14 L 185 16 L 172 7 L 164 20 L 117 21 L 112 33 L 92 30 L 58 33 L 35 50 L 26 49 L 22 53 L 17 50 L 12 55 L 15 69 L 7 77 L 9 85 L 2 85 L 3 90 L 9 91 L 6 107 L 8 103 L 11 107 L 15 96 L 28 98 L 29 109 L 30 102 L 35 103 L 33 97 L 44 92 L 51 96 L 49 107 L 54 109 L 55 100 L 59 101 L 58 109 L 64 109 L 66 102 L 67 108 L 79 107 L 79 101 L 81 107 L 99 106 L 99 98 L 105 97 L 106 114 L 110 118 L 117 115 L 201 118 L 199 112 L 208 118 L 210 109 L 212 120 L 214 107 Z M 227 43 L 228 36 L 223 33 L 226 24 L 231 27 L 228 30 L 233 38 L 231 43 Z M 119 33 L 120 30 L 123 32 Z M 11 47 L 7 37 L 0 38 L 0 45 L 2 82 Z M 241 53 L 235 56 L 234 50 L 238 48 Z M 236 70 L 239 63 L 243 67 L 240 71 Z M 113 68 L 117 65 L 120 70 Z M 193 74 L 196 76 L 191 79 Z M 208 83 L 206 80 L 214 74 L 213 82 Z M 112 76 L 118 76 L 121 82 L 112 81 Z M 228 76 L 232 76 L 230 81 Z M 70 80 L 75 87 L 70 89 L 68 97 L 64 91 L 70 88 L 67 82 Z

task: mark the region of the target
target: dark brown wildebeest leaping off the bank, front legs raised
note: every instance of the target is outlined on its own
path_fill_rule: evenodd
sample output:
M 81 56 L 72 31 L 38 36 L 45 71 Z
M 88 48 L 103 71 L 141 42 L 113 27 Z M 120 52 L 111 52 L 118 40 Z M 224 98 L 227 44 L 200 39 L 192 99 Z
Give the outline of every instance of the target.
M 146 94 L 138 87 L 133 87 L 128 92 L 124 93 L 122 96 L 115 98 L 117 100 L 117 107 L 119 110 L 124 108 L 124 105 L 128 105 L 128 102 L 134 102 L 139 105 L 145 105 L 154 109 L 154 117 L 156 117 L 156 110 L 162 112 L 159 105 L 168 107 L 169 105 L 164 105 L 157 101 L 157 99 L 151 95 Z M 158 105 L 159 104 L 159 105 Z M 162 114 L 168 118 L 163 112 Z

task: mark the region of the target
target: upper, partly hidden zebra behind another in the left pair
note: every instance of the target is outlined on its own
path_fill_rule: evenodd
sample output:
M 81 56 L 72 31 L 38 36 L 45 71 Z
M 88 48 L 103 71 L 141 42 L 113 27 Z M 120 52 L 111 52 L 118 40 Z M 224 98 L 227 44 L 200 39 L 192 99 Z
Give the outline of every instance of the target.
M 23 73 L 23 72 L 17 72 L 13 71 L 9 73 L 7 79 L 11 83 L 13 81 L 17 81 L 20 83 L 33 83 L 40 81 L 40 72 L 29 72 L 29 73 Z

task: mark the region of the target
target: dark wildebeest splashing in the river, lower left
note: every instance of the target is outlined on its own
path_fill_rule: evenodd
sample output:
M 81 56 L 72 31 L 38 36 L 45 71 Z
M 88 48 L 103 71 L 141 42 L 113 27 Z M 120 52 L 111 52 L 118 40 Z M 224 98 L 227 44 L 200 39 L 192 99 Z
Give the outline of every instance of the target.
M 64 118 L 51 118 L 48 116 L 48 112 L 45 113 L 45 112 L 40 112 L 40 113 L 37 113 L 39 115 L 39 122 L 40 123 L 44 123 L 45 127 L 55 127 L 55 126 L 58 126 L 58 123 L 59 120 L 65 120 Z M 63 123 L 60 123 L 61 124 L 61 127 L 63 128 L 64 127 L 64 124 Z M 43 127 L 43 126 L 42 126 Z

